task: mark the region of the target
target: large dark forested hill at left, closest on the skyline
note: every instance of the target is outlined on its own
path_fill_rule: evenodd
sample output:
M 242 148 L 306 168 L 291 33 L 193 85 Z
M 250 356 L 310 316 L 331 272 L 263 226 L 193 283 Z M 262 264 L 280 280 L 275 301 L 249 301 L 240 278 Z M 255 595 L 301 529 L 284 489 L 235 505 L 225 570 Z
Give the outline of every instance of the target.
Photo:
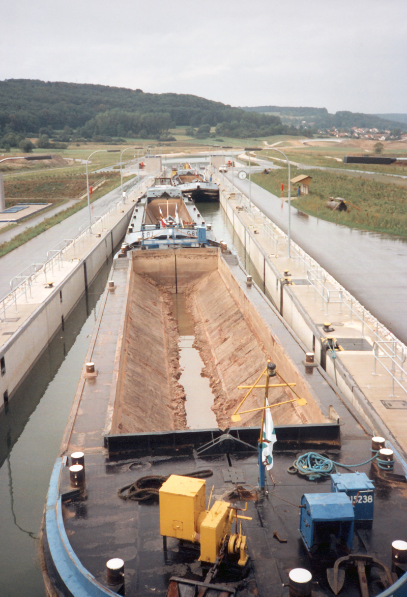
M 225 136 L 291 132 L 278 116 L 249 113 L 192 95 L 32 79 L 0 81 L 0 136 L 53 134 L 69 127 L 87 138 L 157 138 L 176 125 L 217 126 L 216 133 Z

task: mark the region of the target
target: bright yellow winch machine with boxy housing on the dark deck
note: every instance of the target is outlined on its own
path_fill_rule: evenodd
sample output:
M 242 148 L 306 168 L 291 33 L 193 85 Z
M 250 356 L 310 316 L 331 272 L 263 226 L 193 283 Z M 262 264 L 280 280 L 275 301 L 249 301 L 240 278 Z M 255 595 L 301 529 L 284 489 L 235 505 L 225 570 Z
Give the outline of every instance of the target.
M 251 520 L 239 515 L 242 510 L 228 501 L 216 500 L 206 509 L 206 482 L 179 475 L 171 475 L 160 489 L 160 533 L 166 538 L 200 543 L 200 562 L 215 564 L 226 558 L 244 567 L 247 555 L 246 536 L 241 534 L 238 519 Z M 246 508 L 243 511 L 246 511 Z M 234 524 L 234 525 L 233 525 Z M 232 527 L 234 526 L 234 532 Z

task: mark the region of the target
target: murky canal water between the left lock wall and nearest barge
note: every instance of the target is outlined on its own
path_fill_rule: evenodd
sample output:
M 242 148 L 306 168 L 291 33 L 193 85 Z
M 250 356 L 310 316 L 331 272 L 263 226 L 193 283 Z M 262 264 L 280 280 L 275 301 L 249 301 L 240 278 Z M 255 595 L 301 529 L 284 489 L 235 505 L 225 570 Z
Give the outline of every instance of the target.
M 44 597 L 38 535 L 48 484 L 112 262 L 0 413 L 0 595 Z

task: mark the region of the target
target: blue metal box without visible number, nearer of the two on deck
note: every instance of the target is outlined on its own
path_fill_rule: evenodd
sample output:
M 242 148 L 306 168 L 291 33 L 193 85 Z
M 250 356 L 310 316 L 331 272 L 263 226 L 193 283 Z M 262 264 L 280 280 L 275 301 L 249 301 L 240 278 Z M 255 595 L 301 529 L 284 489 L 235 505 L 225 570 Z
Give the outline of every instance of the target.
M 305 493 L 301 498 L 299 534 L 308 552 L 329 543 L 334 535 L 353 547 L 354 511 L 348 496 L 338 493 Z

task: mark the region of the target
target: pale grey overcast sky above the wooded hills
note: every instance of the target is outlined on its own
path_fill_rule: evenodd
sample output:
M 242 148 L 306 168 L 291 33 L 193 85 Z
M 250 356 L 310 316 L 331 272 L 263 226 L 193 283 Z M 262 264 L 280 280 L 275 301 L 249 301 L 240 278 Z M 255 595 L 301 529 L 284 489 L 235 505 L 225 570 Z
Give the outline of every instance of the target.
M 20 0 L 0 80 L 407 113 L 407 0 Z

